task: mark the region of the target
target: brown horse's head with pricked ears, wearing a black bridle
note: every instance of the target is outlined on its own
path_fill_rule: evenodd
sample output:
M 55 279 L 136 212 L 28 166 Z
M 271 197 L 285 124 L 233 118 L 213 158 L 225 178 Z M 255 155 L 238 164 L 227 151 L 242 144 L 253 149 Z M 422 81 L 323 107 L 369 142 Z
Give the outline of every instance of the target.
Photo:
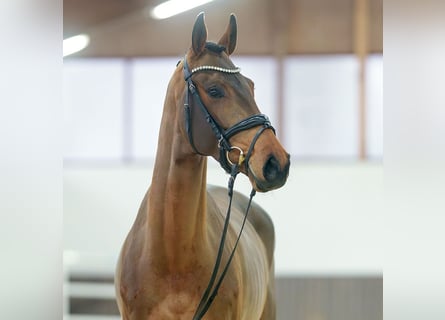
M 216 43 L 207 41 L 204 14 L 198 15 L 191 48 L 179 64 L 186 82 L 182 134 L 191 152 L 214 157 L 227 172 L 237 164 L 256 191 L 266 192 L 286 182 L 289 154 L 258 109 L 253 81 L 230 59 L 236 38 L 233 14 Z

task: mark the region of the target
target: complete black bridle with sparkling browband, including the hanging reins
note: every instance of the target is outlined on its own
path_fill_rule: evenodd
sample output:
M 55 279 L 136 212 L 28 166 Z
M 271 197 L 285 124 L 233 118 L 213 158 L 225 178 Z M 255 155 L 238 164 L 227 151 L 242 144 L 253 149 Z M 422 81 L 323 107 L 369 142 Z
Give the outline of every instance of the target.
M 249 159 L 250 159 L 250 156 L 252 155 L 253 148 L 254 148 L 255 143 L 257 142 L 258 138 L 260 137 L 260 135 L 266 129 L 271 129 L 275 134 L 275 129 L 272 127 L 272 125 L 269 121 L 269 118 L 264 114 L 251 115 L 251 116 L 247 117 L 246 119 L 241 120 L 240 122 L 234 124 L 230 128 L 223 129 L 221 127 L 221 125 L 219 125 L 218 122 L 212 117 L 212 115 L 208 111 L 207 107 L 202 102 L 202 99 L 199 96 L 198 90 L 196 89 L 196 86 L 193 83 L 192 75 L 195 73 L 198 73 L 198 72 L 202 72 L 202 71 L 213 71 L 213 72 L 223 72 L 223 73 L 228 73 L 228 74 L 237 74 L 237 73 L 240 73 L 241 70 L 239 68 L 227 69 L 227 68 L 222 68 L 222 67 L 217 67 L 217 66 L 207 66 L 207 65 L 199 66 L 199 67 L 196 67 L 196 68 L 190 70 L 188 63 L 187 63 L 187 57 L 184 57 L 184 59 L 183 59 L 184 80 L 186 81 L 186 84 L 187 84 L 186 90 L 185 90 L 185 98 L 184 98 L 184 100 L 185 100 L 184 101 L 185 128 L 187 131 L 190 145 L 192 146 L 193 150 L 197 154 L 205 156 L 205 154 L 202 154 L 201 152 L 199 152 L 199 150 L 197 150 L 195 143 L 193 141 L 193 132 L 192 132 L 193 126 L 191 123 L 191 106 L 190 106 L 190 94 L 192 94 L 193 97 L 195 98 L 194 101 L 199 106 L 199 109 L 203 113 L 207 123 L 212 128 L 215 138 L 218 141 L 218 149 L 220 151 L 219 163 L 221 164 L 221 166 L 224 168 L 224 170 L 226 172 L 230 173 L 229 184 L 228 184 L 229 206 L 227 208 L 224 227 L 223 227 L 221 240 L 220 240 L 219 248 L 218 248 L 218 254 L 216 256 L 215 265 L 213 267 L 213 271 L 212 271 L 212 275 L 210 276 L 209 283 L 207 285 L 206 290 L 204 291 L 203 296 L 201 297 L 198 307 L 196 308 L 195 314 L 193 316 L 193 320 L 199 320 L 204 316 L 204 314 L 207 312 L 210 305 L 212 304 L 213 300 L 215 299 L 216 295 L 218 294 L 218 289 L 221 286 L 221 283 L 227 273 L 229 265 L 230 265 L 232 258 L 234 256 L 235 250 L 238 246 L 238 242 L 240 240 L 241 234 L 244 229 L 244 225 L 246 223 L 246 219 L 247 219 L 247 215 L 249 213 L 252 199 L 256 193 L 255 190 L 252 189 L 252 192 L 250 193 L 249 202 L 248 202 L 248 205 L 246 208 L 246 213 L 244 214 L 243 222 L 241 224 L 241 228 L 240 228 L 240 231 L 238 234 L 238 238 L 236 239 L 236 242 L 235 242 L 232 252 L 229 256 L 229 259 L 228 259 L 226 265 L 224 266 L 224 269 L 222 270 L 217 283 L 215 284 L 215 286 L 213 286 L 216 281 L 216 276 L 218 274 L 219 266 L 221 264 L 222 253 L 224 250 L 224 243 L 225 243 L 226 234 L 227 234 L 229 221 L 230 221 L 230 212 L 231 212 L 232 198 L 233 198 L 233 186 L 235 183 L 235 178 L 236 178 L 237 174 L 239 173 L 239 168 L 244 163 L 246 172 L 249 172 Z M 249 149 L 247 151 L 247 154 L 244 156 L 243 150 L 237 146 L 232 146 L 229 139 L 241 131 L 248 130 L 250 128 L 254 128 L 257 126 L 261 126 L 261 127 L 258 129 L 255 136 L 253 137 L 252 142 L 250 143 Z M 229 158 L 229 153 L 232 150 L 238 150 L 240 153 L 239 158 L 238 158 L 238 163 L 233 163 Z M 213 287 L 213 290 L 212 290 L 212 287 Z

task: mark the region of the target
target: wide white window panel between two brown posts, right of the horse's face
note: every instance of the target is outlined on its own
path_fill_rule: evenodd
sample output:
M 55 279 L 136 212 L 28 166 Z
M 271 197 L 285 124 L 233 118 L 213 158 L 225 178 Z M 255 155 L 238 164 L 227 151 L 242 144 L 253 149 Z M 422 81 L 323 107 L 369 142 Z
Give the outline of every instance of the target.
M 358 154 L 354 56 L 290 57 L 284 65 L 285 145 L 302 158 Z

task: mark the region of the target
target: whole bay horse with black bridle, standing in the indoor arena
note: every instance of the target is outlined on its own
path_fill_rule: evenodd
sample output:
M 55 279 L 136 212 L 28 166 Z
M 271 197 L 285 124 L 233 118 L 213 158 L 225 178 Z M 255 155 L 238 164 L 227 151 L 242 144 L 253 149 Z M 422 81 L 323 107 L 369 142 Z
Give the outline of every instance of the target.
M 236 38 L 232 14 L 220 40 L 207 42 L 199 14 L 191 48 L 169 82 L 152 183 L 116 268 L 117 303 L 125 320 L 275 319 L 274 228 L 250 201 L 255 191 L 285 184 L 290 160 L 259 112 L 253 82 L 230 60 Z M 250 200 L 207 187 L 207 156 L 231 173 L 232 183 L 238 172 L 249 178 Z M 215 268 L 218 259 L 226 264 L 224 271 Z M 203 293 L 212 286 L 213 273 L 220 287 L 212 304 Z

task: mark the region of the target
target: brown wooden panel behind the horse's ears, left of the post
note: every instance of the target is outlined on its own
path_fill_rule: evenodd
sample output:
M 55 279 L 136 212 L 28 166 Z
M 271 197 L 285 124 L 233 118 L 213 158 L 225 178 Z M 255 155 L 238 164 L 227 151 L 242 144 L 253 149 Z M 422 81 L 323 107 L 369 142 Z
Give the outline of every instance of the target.
M 219 39 L 228 24 L 230 13 L 234 12 L 238 20 L 235 53 L 270 54 L 271 26 L 267 2 L 232 0 L 212 3 L 212 6 L 205 8 L 208 39 Z M 172 19 L 153 20 L 145 9 L 101 22 L 85 30 L 91 35 L 91 42 L 77 56 L 180 56 L 190 46 L 193 23 L 202 10 L 200 7 Z

